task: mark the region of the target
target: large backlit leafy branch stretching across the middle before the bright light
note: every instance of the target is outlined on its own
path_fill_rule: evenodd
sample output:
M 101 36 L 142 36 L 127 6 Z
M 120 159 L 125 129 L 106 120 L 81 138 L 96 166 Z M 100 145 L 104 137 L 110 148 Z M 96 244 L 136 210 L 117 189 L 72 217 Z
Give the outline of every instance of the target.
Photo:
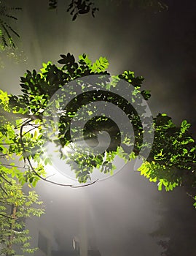
M 55 143 L 59 157 L 71 166 L 81 184 L 90 181 L 90 175 L 95 168 L 101 173 L 112 174 L 115 170 L 113 160 L 118 156 L 125 162 L 143 157 L 144 163 L 141 167 L 138 165 L 138 170 L 141 175 L 149 178 L 149 181 L 157 182 L 158 189 L 162 189 L 162 186 L 167 191 L 176 186 L 195 188 L 196 145 L 189 133 L 190 124 L 182 121 L 181 126 L 176 127 L 165 113 L 160 113 L 152 119 L 151 116 L 145 116 L 147 107 L 141 100 L 148 100 L 150 93 L 141 90 L 144 78 L 135 77 L 131 71 L 109 76 L 106 72 L 109 62 L 103 57 L 92 63 L 85 54 L 79 56 L 78 62 L 70 53 L 60 56 L 62 59 L 58 63 L 63 67 L 57 67 L 49 61 L 43 64 L 41 72 L 27 71 L 26 75 L 21 77 L 21 95 L 7 95 L 1 91 L 0 99 L 4 113 L 12 113 L 13 117 L 13 124 L 7 121 L 1 126 L 1 157 L 16 154 L 29 165 L 25 173 L 16 173 L 13 170 L 22 184 L 29 181 L 35 186 L 39 178 L 49 181 L 44 176 L 44 165 L 51 164 L 51 157 L 46 157 L 42 152 L 50 141 Z M 102 87 L 87 91 L 92 78 L 95 78 L 94 85 Z M 122 81 L 125 82 L 123 85 Z M 124 86 L 123 95 L 119 85 Z M 114 89 L 115 92 L 112 91 Z M 60 94 L 56 94 L 59 90 Z M 130 102 L 126 99 L 129 93 Z M 69 99 L 70 102 L 64 108 L 61 102 Z M 93 111 L 87 109 L 90 103 L 103 101 L 118 106 L 125 113 L 133 126 L 135 141 L 129 127 L 124 125 L 125 129 L 120 131 L 111 118 L 98 112 L 98 105 L 93 106 Z M 140 113 L 137 113 L 138 110 Z M 87 116 L 80 117 L 85 111 L 89 119 L 81 133 L 80 124 Z M 91 112 L 97 116 L 90 118 Z M 74 118 L 80 119 L 78 127 L 71 127 Z M 87 141 L 93 141 L 96 148 L 98 132 L 104 130 L 109 132 L 113 143 L 110 143 L 106 150 L 99 152 L 93 151 L 91 147 L 89 153 L 90 145 Z M 74 141 L 71 139 L 71 132 L 75 134 Z M 145 134 L 150 136 L 150 141 L 143 141 Z M 81 141 L 83 135 L 87 143 L 80 147 L 77 142 Z M 154 141 L 150 143 L 152 139 Z M 5 147 L 4 143 L 9 145 Z M 72 151 L 65 156 L 63 148 L 66 147 Z M 149 154 L 146 157 L 147 151 Z M 36 163 L 35 166 L 32 165 L 32 160 Z M 66 186 L 73 187 L 70 184 Z

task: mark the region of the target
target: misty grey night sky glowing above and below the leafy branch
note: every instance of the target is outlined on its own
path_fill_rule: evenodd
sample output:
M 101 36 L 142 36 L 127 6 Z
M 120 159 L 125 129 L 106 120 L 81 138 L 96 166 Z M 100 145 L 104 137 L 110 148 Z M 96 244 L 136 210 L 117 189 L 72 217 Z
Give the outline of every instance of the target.
M 18 63 L 1 53 L 1 89 L 20 92 L 26 69 L 39 70 L 42 62 L 55 64 L 60 54 L 90 59 L 106 56 L 111 75 L 133 70 L 144 76 L 154 116 L 168 113 L 176 124 L 187 119 L 196 137 L 196 1 L 165 0 L 168 11 L 133 10 L 118 1 L 98 0 L 100 11 L 71 21 L 67 2 L 58 11 L 47 10 L 47 0 L 4 1 L 23 7 L 13 24 Z M 21 55 L 21 56 L 20 56 Z M 158 256 L 163 248 L 150 236 L 160 226 L 170 238 L 172 256 L 196 255 L 196 211 L 183 189 L 158 192 L 130 163 L 116 176 L 82 189 L 55 187 L 40 182 L 37 191 L 47 214 L 39 222 L 54 230 L 55 249 L 71 249 L 81 230 L 101 256 Z M 194 221 L 195 219 L 195 221 Z M 176 245 L 174 245 L 176 244 Z M 175 247 L 176 246 L 176 247 Z M 187 253 L 186 253 L 187 252 Z

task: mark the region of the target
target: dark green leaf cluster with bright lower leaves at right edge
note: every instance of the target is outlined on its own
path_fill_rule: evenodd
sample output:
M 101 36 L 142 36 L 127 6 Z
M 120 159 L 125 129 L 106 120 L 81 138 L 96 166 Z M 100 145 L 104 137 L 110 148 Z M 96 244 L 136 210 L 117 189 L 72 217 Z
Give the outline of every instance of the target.
M 158 181 L 167 191 L 176 186 L 195 187 L 195 140 L 189 133 L 186 120 L 180 127 L 173 124 L 166 114 L 154 118 L 154 144 L 148 162 L 140 167 L 141 175 L 150 181 Z

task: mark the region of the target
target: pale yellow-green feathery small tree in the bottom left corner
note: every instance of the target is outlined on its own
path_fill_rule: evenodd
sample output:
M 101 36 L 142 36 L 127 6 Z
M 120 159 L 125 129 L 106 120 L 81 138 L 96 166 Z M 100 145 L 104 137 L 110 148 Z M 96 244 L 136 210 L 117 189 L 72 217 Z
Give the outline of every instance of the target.
M 15 167 L 17 171 L 17 168 Z M 1 172 L 11 173 L 9 167 L 1 165 Z M 26 218 L 40 217 L 44 214 L 42 205 L 36 192 L 30 190 L 28 195 L 23 192 L 23 187 L 14 178 L 8 175 L 1 181 L 0 190 L 0 254 L 5 256 L 16 255 L 16 247 L 23 253 L 34 253 L 36 248 L 31 248 L 31 236 L 26 229 Z

